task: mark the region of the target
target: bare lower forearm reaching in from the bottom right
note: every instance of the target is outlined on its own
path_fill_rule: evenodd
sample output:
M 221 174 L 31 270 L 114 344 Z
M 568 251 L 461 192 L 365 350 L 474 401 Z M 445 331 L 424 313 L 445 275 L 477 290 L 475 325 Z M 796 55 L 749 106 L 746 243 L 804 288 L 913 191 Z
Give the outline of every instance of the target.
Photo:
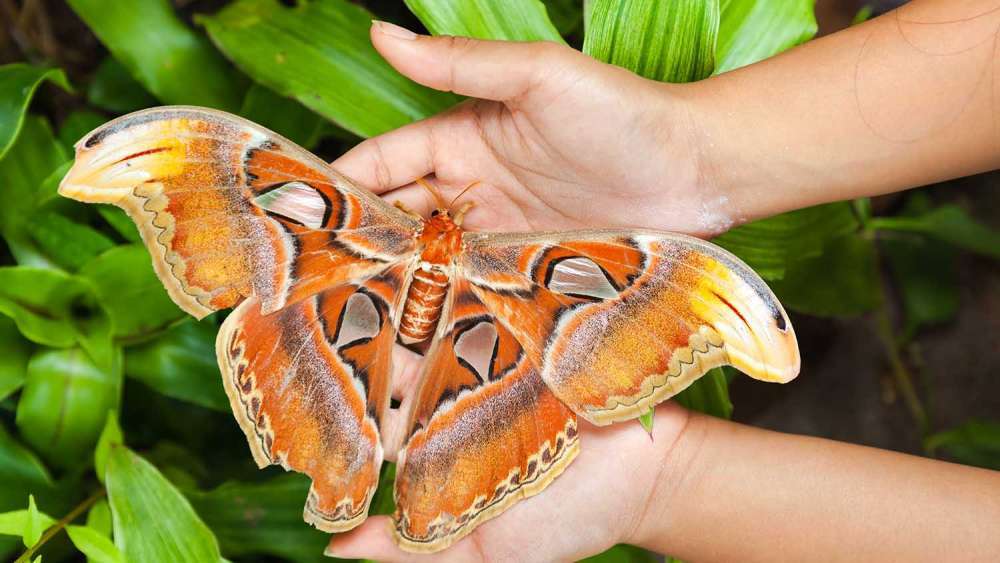
M 692 414 L 631 541 L 693 561 L 995 560 L 1000 473 Z

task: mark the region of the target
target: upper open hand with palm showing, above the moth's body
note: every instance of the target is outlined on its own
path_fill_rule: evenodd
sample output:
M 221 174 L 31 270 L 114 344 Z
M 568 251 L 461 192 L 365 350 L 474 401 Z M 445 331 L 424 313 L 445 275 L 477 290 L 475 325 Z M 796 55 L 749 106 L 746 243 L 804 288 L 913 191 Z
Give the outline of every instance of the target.
M 428 37 L 383 22 L 375 48 L 404 75 L 471 99 L 368 139 L 333 163 L 389 201 L 426 213 L 414 184 L 446 199 L 473 182 L 476 230 L 641 227 L 716 234 L 727 201 L 699 169 L 681 86 L 646 80 L 547 42 Z

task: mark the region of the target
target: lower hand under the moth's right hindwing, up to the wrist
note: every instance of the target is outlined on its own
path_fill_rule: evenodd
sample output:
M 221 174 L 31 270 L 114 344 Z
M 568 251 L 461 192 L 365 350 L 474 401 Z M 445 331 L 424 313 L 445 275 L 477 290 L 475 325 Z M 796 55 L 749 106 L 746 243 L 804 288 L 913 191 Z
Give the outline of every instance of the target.
M 378 561 L 569 561 L 635 543 L 650 527 L 644 520 L 654 492 L 681 480 L 683 464 L 668 463 L 668 457 L 687 420 L 687 411 L 674 403 L 657 407 L 652 434 L 638 422 L 596 427 L 580 420 L 580 453 L 562 475 L 443 552 L 402 551 L 392 540 L 389 517 L 372 516 L 334 535 L 327 554 Z

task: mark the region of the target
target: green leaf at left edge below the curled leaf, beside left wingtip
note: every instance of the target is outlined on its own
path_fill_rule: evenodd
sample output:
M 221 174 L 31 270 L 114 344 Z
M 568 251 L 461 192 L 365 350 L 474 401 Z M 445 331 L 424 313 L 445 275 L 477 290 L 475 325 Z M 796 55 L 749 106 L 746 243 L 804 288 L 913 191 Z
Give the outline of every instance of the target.
M 69 160 L 43 117 L 29 115 L 24 120 L 17 142 L 0 160 L 0 233 L 7 239 L 23 239 L 23 228 L 31 220 L 39 201 L 40 187 L 46 178 Z M 19 262 L 14 245 L 11 248 Z

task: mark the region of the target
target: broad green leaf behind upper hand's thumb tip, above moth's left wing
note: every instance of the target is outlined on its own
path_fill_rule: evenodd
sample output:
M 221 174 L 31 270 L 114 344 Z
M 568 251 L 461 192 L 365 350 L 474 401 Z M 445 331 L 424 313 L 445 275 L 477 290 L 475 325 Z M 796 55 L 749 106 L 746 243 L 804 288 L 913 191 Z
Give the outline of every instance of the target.
M 422 119 L 458 100 L 393 70 L 371 45 L 371 13 L 344 0 L 295 7 L 277 0 L 237 0 L 196 21 L 254 80 L 363 137 Z

